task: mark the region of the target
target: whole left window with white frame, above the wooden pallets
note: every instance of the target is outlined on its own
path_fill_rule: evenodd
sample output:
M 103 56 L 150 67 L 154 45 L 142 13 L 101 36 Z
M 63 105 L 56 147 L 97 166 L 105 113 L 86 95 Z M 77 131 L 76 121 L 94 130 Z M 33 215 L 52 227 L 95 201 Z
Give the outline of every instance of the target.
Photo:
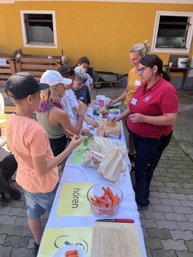
M 55 11 L 21 11 L 24 46 L 57 48 Z

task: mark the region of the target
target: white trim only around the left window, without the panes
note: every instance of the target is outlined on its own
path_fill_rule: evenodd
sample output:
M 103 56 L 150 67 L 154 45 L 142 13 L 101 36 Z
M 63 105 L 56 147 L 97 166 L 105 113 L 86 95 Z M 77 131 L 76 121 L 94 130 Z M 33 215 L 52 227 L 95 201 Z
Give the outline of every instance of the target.
M 53 22 L 53 40 L 54 44 L 29 44 L 27 43 L 26 38 L 26 30 L 25 30 L 25 24 L 24 24 L 24 14 L 52 14 L 52 22 Z M 36 48 L 57 48 L 57 33 L 56 33 L 56 21 L 55 21 L 55 11 L 32 11 L 32 10 L 26 10 L 26 11 L 20 11 L 21 15 L 21 25 L 22 25 L 22 36 L 23 36 L 23 43 L 24 47 L 36 47 Z

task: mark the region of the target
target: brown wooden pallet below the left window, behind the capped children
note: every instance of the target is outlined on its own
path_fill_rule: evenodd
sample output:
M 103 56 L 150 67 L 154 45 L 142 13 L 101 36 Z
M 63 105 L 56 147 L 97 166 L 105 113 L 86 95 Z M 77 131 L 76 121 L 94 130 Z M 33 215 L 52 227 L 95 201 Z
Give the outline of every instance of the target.
M 15 58 L 17 72 L 29 72 L 39 82 L 41 75 L 47 69 L 56 70 L 60 67 L 60 59 L 47 59 L 35 57 Z

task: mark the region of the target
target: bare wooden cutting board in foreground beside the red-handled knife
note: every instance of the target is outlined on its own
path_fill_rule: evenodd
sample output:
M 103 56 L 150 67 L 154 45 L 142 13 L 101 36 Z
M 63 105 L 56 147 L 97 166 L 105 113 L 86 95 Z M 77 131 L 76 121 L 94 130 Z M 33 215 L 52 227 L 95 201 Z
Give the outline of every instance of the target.
M 91 257 L 142 257 L 138 226 L 98 222 L 93 226 Z

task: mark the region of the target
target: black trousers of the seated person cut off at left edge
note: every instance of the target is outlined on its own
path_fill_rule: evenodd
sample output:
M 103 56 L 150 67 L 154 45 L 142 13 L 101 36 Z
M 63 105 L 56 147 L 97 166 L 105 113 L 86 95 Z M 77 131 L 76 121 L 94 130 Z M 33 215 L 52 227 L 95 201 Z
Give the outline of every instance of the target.
M 3 148 L 0 148 L 0 191 L 8 192 L 10 188 L 9 180 L 16 172 L 18 163 L 14 155 Z

